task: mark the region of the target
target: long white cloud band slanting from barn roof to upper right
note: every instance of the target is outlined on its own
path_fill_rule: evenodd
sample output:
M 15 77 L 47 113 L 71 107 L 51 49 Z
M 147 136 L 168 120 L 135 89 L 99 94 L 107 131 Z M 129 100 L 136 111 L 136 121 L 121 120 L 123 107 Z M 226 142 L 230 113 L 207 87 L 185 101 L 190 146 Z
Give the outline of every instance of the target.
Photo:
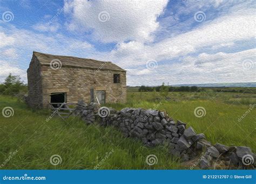
M 145 65 L 147 60 L 172 60 L 180 56 L 196 53 L 206 46 L 222 45 L 230 47 L 235 41 L 252 39 L 256 36 L 254 11 L 235 12 L 220 17 L 196 30 L 167 38 L 156 44 L 123 43 L 107 57 L 125 68 Z M 228 43 L 228 44 L 227 44 Z

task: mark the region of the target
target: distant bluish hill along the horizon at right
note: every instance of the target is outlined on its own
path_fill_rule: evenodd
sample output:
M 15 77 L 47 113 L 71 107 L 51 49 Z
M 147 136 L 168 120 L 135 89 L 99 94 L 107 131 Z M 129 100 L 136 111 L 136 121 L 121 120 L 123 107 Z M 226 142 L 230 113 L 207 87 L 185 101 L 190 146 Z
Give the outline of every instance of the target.
M 169 86 L 197 86 L 197 87 L 256 87 L 256 82 L 238 83 L 206 83 L 206 84 L 174 84 Z

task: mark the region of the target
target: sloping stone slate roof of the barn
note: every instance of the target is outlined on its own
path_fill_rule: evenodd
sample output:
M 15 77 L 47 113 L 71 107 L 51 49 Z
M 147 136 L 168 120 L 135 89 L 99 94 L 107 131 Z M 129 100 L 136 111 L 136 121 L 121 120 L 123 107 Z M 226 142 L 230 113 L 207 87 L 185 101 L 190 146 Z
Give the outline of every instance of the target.
M 118 70 L 118 71 L 126 71 L 123 68 L 115 65 L 110 61 L 98 61 L 94 59 L 86 59 L 86 58 L 77 58 L 73 56 L 64 56 L 64 55 L 52 55 L 45 54 L 40 52 L 33 52 L 33 55 L 36 56 L 41 65 L 50 65 L 50 62 L 54 59 L 60 60 L 62 66 L 70 66 L 70 67 L 81 67 L 81 68 L 93 68 L 98 69 L 102 67 L 102 69 L 110 69 L 110 70 Z

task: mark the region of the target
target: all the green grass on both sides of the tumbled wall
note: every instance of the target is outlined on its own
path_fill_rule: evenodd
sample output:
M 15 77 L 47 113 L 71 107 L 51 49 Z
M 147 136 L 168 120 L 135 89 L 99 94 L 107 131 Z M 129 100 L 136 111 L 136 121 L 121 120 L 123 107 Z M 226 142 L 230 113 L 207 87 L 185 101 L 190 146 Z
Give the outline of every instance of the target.
M 212 143 L 250 146 L 256 152 L 256 110 L 238 122 L 253 103 L 255 94 L 176 92 L 166 98 L 154 92 L 129 92 L 126 104 L 106 106 L 153 109 L 160 104 L 158 109 L 165 109 L 175 120 L 186 122 L 198 133 L 205 133 Z M 58 117 L 46 122 L 49 111 L 33 111 L 16 98 L 0 96 L 1 111 L 4 107 L 12 107 L 14 116 L 0 116 L 1 169 L 93 169 L 96 165 L 98 169 L 184 169 L 177 158 L 170 157 L 166 147 L 144 147 L 138 141 L 123 138 L 112 127 L 86 125 L 72 117 L 66 122 Z M 197 107 L 205 109 L 205 116 L 194 115 Z M 54 154 L 62 158 L 57 166 L 50 163 Z M 149 154 L 157 155 L 156 165 L 146 164 Z

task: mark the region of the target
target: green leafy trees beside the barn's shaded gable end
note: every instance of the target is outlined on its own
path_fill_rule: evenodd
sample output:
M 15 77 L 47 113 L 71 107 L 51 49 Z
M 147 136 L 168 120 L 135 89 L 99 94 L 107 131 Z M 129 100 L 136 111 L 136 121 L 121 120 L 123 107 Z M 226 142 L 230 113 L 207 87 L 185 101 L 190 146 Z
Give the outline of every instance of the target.
M 9 74 L 4 82 L 0 84 L 0 94 L 12 95 L 25 94 L 28 91 L 28 86 L 21 81 L 18 75 Z

